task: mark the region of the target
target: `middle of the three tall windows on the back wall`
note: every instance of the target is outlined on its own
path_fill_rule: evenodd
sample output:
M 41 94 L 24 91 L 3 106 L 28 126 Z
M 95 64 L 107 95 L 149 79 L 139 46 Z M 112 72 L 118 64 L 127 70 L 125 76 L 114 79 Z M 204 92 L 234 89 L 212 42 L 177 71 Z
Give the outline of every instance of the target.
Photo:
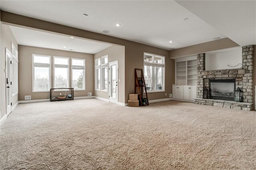
M 54 88 L 69 87 L 69 58 L 54 56 Z

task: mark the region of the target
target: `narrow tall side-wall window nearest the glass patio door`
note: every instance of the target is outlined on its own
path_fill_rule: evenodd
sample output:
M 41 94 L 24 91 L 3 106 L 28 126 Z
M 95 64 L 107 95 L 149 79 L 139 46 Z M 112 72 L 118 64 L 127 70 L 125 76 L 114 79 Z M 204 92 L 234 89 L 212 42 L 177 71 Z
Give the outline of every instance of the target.
M 101 91 L 108 91 L 108 55 L 101 57 Z

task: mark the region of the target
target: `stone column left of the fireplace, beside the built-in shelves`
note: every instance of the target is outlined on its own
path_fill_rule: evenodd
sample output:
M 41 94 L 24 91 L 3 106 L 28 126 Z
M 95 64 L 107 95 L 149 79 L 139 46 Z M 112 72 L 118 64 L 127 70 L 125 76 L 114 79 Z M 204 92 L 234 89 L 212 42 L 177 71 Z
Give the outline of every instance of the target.
M 197 98 L 203 98 L 203 71 L 205 71 L 205 53 L 200 53 L 197 55 Z

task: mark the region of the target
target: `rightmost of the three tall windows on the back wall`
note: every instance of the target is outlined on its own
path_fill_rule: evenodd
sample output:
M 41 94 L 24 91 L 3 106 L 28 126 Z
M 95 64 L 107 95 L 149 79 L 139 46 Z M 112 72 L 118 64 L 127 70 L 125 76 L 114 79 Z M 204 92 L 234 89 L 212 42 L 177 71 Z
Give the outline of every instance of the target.
M 72 87 L 85 90 L 85 59 L 72 58 Z

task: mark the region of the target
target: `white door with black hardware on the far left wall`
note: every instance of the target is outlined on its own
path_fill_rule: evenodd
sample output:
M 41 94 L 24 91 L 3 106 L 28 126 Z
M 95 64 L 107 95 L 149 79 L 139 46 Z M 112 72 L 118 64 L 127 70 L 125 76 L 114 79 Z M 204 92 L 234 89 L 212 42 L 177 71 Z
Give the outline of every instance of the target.
M 5 66 L 5 74 L 6 74 L 6 112 L 9 115 L 12 111 L 12 91 L 11 91 L 11 76 L 12 76 L 12 67 L 11 67 L 11 59 L 12 54 L 10 51 L 5 48 L 6 55 L 6 66 Z

